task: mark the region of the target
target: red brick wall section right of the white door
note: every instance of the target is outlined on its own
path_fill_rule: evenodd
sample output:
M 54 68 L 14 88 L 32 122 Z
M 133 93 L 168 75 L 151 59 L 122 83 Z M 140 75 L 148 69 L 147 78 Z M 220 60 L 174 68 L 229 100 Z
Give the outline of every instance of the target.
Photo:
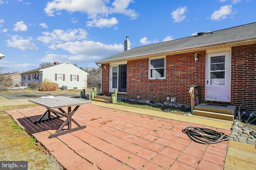
M 232 47 L 231 104 L 256 110 L 256 44 Z

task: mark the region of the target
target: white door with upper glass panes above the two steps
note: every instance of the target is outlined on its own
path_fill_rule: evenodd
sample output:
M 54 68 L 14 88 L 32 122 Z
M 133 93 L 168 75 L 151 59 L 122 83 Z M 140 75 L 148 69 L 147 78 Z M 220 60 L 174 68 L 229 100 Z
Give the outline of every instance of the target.
M 205 98 L 230 102 L 230 52 L 207 55 Z

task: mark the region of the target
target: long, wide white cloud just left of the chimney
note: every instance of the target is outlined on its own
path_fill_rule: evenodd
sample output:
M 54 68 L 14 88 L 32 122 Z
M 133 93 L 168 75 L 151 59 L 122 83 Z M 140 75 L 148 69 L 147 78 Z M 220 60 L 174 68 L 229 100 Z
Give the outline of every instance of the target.
M 68 51 L 72 55 L 58 55 L 58 54 L 47 54 L 40 61 L 42 62 L 66 62 L 66 61 L 83 61 L 93 62 L 100 58 L 120 53 L 123 51 L 124 46 L 121 44 L 106 45 L 100 42 L 94 41 L 76 41 L 66 42 L 62 44 L 50 45 L 49 49 L 62 49 Z

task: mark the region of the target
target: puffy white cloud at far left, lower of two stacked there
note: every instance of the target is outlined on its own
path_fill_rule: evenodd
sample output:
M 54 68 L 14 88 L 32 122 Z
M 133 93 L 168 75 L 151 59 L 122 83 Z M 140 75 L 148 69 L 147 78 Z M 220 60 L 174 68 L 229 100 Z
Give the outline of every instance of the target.
M 12 39 L 7 40 L 6 42 L 8 47 L 14 47 L 21 50 L 38 50 L 38 47 L 36 47 L 36 45 L 31 41 L 32 37 L 27 37 L 26 39 L 23 39 L 23 37 L 13 35 Z

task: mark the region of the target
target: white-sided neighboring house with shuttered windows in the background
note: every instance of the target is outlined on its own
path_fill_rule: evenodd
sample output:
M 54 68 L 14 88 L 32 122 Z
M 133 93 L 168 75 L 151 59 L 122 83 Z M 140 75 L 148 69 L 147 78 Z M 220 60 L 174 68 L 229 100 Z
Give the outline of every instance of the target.
M 30 87 L 32 83 L 41 83 L 45 78 L 58 83 L 60 89 L 84 89 L 87 87 L 88 73 L 73 64 L 55 62 L 52 66 L 37 68 L 21 73 L 22 86 Z

